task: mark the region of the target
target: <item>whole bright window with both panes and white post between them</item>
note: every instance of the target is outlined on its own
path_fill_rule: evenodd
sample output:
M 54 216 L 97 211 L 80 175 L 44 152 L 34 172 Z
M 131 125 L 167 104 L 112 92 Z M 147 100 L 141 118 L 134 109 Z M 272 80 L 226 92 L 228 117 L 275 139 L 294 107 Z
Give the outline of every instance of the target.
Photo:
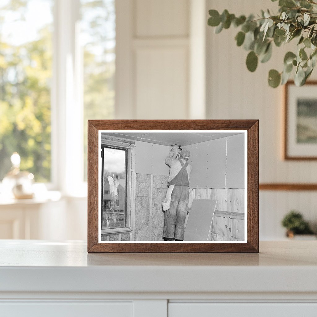
M 87 120 L 114 118 L 115 20 L 115 0 L 0 1 L 0 182 L 18 152 L 36 182 L 87 187 Z

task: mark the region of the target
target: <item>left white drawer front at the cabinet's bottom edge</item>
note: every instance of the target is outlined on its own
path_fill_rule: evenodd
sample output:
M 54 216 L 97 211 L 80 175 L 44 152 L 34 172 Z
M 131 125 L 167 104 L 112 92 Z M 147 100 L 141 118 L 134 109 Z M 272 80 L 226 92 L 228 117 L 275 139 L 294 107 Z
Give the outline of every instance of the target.
M 132 302 L 1 302 L 5 317 L 132 317 Z

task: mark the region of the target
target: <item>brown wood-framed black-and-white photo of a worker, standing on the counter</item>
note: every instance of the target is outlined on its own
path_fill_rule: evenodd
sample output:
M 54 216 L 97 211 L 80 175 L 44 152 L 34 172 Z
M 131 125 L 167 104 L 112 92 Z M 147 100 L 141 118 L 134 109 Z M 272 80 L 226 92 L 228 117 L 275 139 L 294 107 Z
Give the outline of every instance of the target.
M 258 120 L 88 120 L 88 252 L 259 252 Z

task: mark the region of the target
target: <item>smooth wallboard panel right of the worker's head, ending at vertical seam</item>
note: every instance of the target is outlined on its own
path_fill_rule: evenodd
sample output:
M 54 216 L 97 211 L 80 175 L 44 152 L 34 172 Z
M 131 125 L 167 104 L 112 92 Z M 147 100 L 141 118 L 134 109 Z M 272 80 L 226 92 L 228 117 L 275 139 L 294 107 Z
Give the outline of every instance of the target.
M 189 146 L 189 163 L 192 166 L 189 187 L 225 188 L 226 138 L 216 139 Z

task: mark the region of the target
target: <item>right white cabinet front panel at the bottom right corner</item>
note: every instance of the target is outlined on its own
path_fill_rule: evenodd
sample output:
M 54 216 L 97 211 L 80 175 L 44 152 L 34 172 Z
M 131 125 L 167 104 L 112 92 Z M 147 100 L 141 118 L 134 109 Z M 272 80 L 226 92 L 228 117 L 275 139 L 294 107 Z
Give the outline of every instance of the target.
M 293 317 L 317 316 L 317 303 L 176 303 L 168 305 L 169 317 Z

